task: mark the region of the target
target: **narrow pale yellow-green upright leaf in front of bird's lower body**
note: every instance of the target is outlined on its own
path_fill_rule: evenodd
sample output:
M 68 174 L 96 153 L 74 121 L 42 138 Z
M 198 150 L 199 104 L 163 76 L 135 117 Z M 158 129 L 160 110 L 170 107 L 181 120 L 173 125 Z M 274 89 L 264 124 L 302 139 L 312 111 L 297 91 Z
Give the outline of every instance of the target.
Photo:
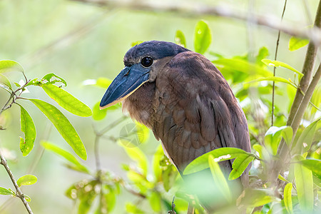
M 218 188 L 221 195 L 228 201 L 232 200 L 232 195 L 230 193 L 230 188 L 228 187 L 228 181 L 225 179 L 222 170 L 220 170 L 220 165 L 215 161 L 212 155 L 208 156 L 208 165 L 210 166 L 210 172 L 212 173 L 215 187 Z

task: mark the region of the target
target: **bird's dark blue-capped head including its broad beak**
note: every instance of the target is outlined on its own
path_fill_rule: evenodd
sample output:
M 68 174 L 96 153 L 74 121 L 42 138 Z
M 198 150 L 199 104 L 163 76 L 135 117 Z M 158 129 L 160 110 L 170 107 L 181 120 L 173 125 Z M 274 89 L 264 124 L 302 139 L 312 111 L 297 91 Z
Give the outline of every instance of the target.
M 166 41 L 146 41 L 129 49 L 123 58 L 125 68 L 116 76 L 101 99 L 100 108 L 123 101 L 146 82 L 153 82 L 166 62 L 189 51 Z

